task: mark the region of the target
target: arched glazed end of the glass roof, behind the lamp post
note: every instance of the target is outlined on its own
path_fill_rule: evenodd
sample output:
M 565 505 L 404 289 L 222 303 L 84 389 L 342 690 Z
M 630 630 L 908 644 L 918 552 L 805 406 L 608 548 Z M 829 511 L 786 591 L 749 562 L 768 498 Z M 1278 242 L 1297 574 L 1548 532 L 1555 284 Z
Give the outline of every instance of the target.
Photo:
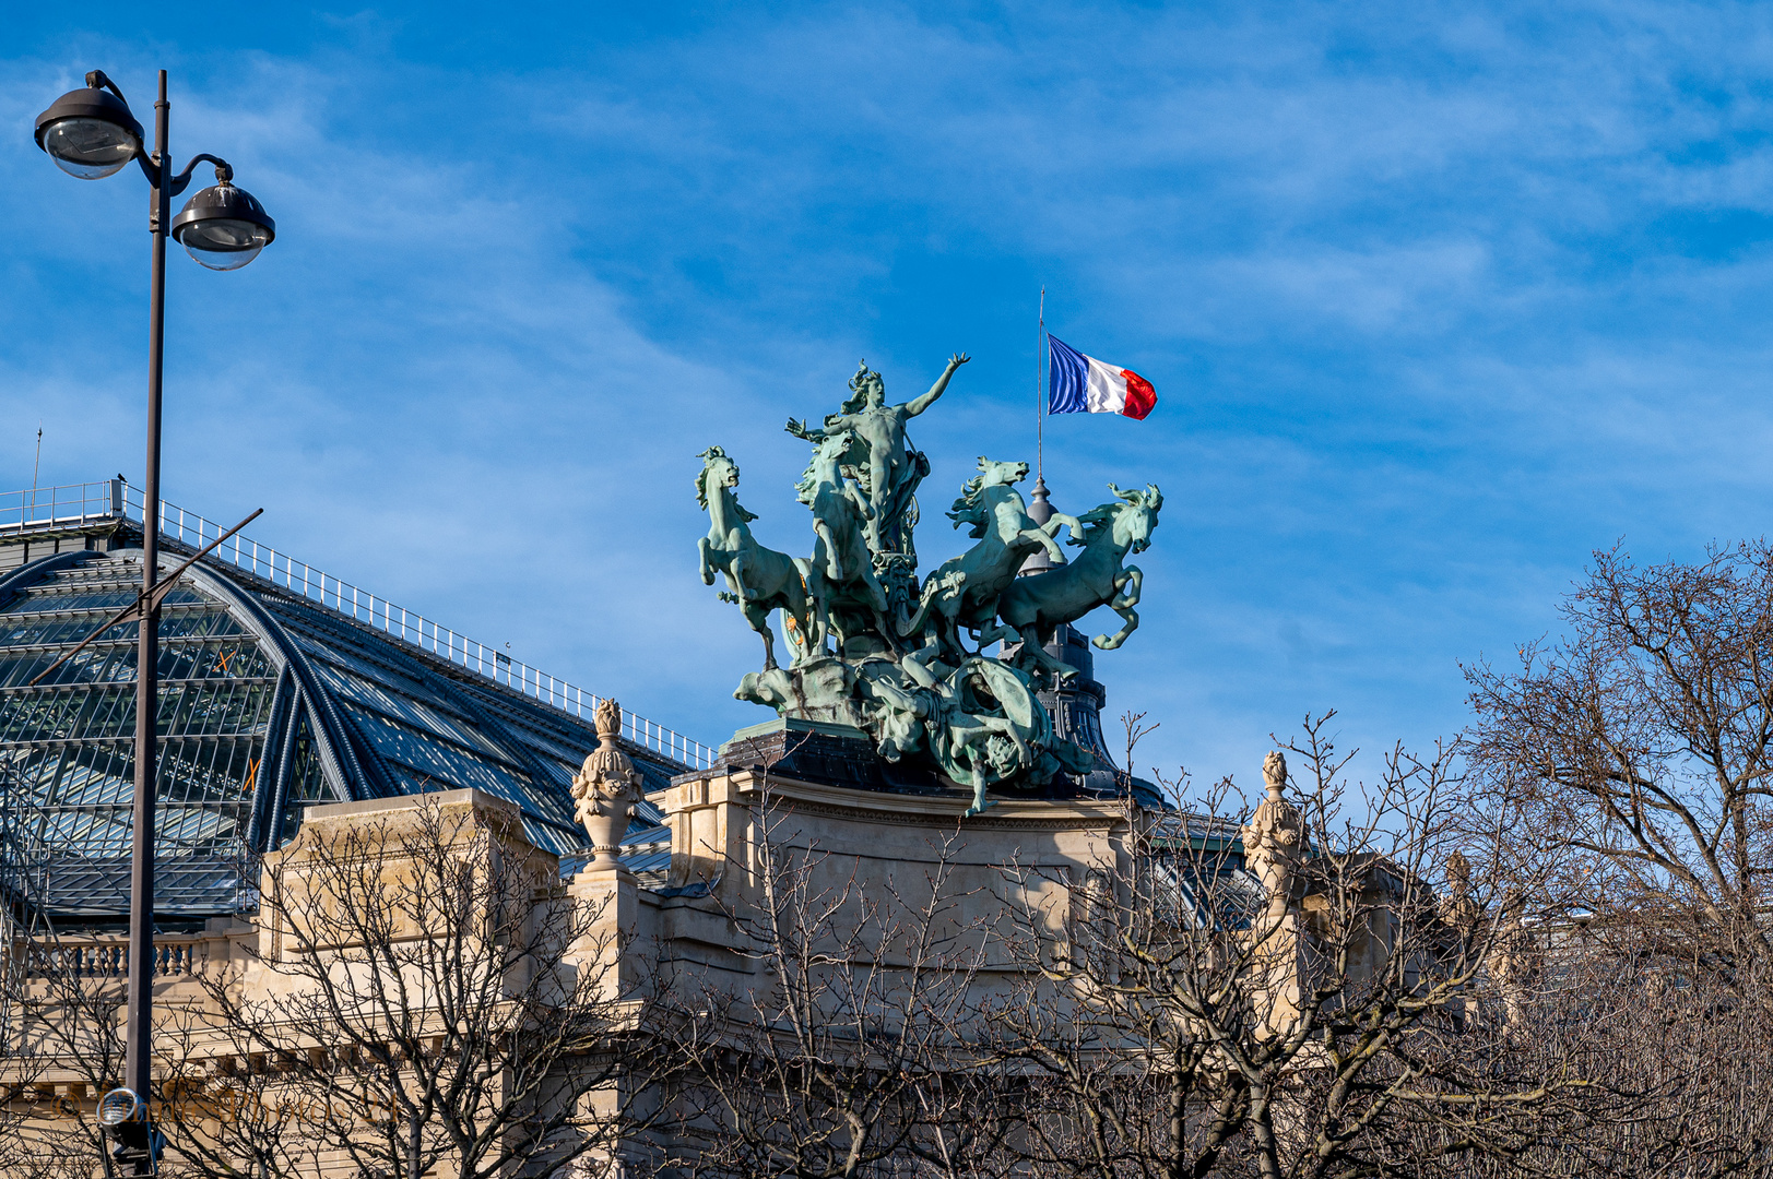
M 135 601 L 138 566 L 62 571 L 0 613 L 0 764 L 21 895 L 51 913 L 121 915 L 135 794 L 135 635 L 99 640 L 27 686 Z M 220 603 L 176 587 L 160 622 L 156 911 L 232 911 L 250 890 L 243 824 L 275 667 Z

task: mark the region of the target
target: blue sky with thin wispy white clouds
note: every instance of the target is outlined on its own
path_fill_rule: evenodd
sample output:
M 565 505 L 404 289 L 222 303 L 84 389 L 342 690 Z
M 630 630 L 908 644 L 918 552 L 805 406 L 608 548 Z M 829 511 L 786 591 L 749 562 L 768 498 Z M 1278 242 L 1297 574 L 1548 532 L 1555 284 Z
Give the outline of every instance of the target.
M 92 67 L 278 223 L 168 261 L 165 495 L 706 741 L 761 661 L 695 576 L 695 454 L 810 548 L 803 443 L 858 356 L 920 550 L 1034 457 L 1035 303 L 1160 392 L 1051 422 L 1060 507 L 1158 482 L 1097 660 L 1142 766 L 1464 723 L 1590 550 L 1695 557 L 1773 491 L 1773 9 L 53 5 L 0 41 L 0 482 L 142 468 L 145 184 L 30 138 Z M 663 9 L 663 11 L 661 11 Z M 1096 629 L 1108 629 L 1108 619 Z

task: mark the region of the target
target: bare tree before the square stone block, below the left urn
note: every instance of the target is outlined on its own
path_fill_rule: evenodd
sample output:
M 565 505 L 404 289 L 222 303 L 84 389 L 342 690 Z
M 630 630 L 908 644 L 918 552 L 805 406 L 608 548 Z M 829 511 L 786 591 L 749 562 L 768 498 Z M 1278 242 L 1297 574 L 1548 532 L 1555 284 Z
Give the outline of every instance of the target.
M 360 1175 L 617 1165 L 644 1003 L 608 913 L 560 888 L 514 808 L 309 823 L 266 885 L 255 959 L 206 982 L 220 1071 L 273 1081 L 245 1115 L 296 1119 Z

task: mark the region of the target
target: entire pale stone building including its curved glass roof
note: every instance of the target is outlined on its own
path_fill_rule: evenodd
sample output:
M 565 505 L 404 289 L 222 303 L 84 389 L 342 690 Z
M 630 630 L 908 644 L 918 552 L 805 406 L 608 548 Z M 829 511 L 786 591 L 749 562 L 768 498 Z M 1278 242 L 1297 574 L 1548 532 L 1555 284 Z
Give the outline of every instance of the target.
M 0 1138 L 27 1144 L 27 1161 L 50 1152 L 34 1142 L 78 1154 L 121 1064 L 133 626 L 32 683 L 140 578 L 128 488 L 78 502 L 23 507 L 16 521 L 0 511 L 4 993 L 9 1032 L 60 1021 L 60 1039 L 28 1032 L 30 1048 L 0 1062 Z M 168 567 L 202 535 L 170 537 Z M 1165 812 L 1149 784 L 1112 769 L 1092 791 L 1009 794 L 966 816 L 972 789 L 874 780 L 867 745 L 835 727 L 778 720 L 700 746 L 298 566 L 236 548 L 193 566 L 167 606 L 158 1099 L 183 1135 L 168 1158 L 199 1174 L 223 1156 L 239 1174 L 280 1174 L 273 1156 L 294 1158 L 309 1129 L 319 1142 L 332 1117 L 365 1142 L 387 1136 L 381 1097 L 351 1089 L 358 1080 L 333 1081 L 321 1105 L 310 1083 L 367 1074 L 383 1050 L 395 1073 L 452 1051 L 491 1053 L 507 1078 L 534 1064 L 534 1092 L 475 1106 L 511 1119 L 489 1142 L 543 1133 L 576 1156 L 567 1174 L 642 1168 L 697 1126 L 683 1087 L 640 1092 L 647 1053 L 768 1055 L 764 1041 L 784 1034 L 771 1003 L 794 1002 L 780 995 L 789 959 L 824 972 L 801 996 L 821 1018 L 846 1014 L 832 979 L 856 972 L 863 996 L 931 975 L 949 988 L 945 1011 L 980 1012 L 1039 995 L 1092 913 L 1126 902 L 1115 890 L 1163 890 L 1168 920 L 1234 940 L 1257 929 L 1277 1030 L 1310 970 L 1308 847 L 1284 764 L 1269 762 L 1268 798 L 1243 830 Z M 1099 684 L 1085 688 L 1099 709 Z M 1078 700 L 1064 704 L 1089 713 L 1101 746 Z M 457 947 L 466 973 L 426 973 L 436 945 Z M 1386 945 L 1376 925 L 1367 957 L 1383 961 Z M 395 963 L 392 984 L 376 961 Z M 369 1011 L 394 984 L 404 1007 Z M 457 1011 L 452 988 L 482 988 L 479 1005 Z M 351 1034 L 314 1021 L 328 1003 Z M 569 1012 L 560 1019 L 596 1023 L 598 1039 L 512 1060 L 519 1025 L 498 1023 L 511 1011 L 525 1028 Z M 402 1037 L 410 1046 L 388 1048 Z M 695 1057 L 704 1073 L 709 1058 Z M 592 1083 L 573 1083 L 587 1069 Z M 339 1094 L 356 1105 L 339 1113 Z M 241 1129 L 255 1117 L 282 1119 L 280 1136 Z M 319 1174 L 378 1174 L 328 1142 L 309 1156 Z M 452 1158 L 427 1174 L 463 1174 Z M 551 1156 L 528 1158 L 496 1174 L 534 1174 Z

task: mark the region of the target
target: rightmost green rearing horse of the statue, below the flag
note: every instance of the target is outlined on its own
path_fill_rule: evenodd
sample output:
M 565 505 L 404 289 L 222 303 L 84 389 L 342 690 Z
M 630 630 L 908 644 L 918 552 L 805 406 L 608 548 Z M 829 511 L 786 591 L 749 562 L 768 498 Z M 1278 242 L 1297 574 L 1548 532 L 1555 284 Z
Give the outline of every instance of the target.
M 1090 640 L 1101 651 L 1113 651 L 1138 629 L 1138 612 L 1133 606 L 1138 605 L 1145 574 L 1138 566 L 1122 567 L 1121 558 L 1128 551 L 1144 553 L 1151 544 L 1163 493 L 1158 484 L 1147 484 L 1144 491 L 1122 491 L 1113 484 L 1108 489 L 1119 504 L 1092 507 L 1078 518 L 1083 539 L 1073 537 L 1071 543 L 1083 544 L 1083 555 L 1069 566 L 1012 582 L 998 596 L 996 615 L 1004 624 L 980 635 L 980 647 L 1019 636 L 1023 668 L 1032 665 L 1055 675 L 1074 675 L 1076 668 L 1046 654 L 1046 642 L 1062 622 L 1076 622 L 1096 606 L 1119 613 L 1126 624 L 1117 633 Z

